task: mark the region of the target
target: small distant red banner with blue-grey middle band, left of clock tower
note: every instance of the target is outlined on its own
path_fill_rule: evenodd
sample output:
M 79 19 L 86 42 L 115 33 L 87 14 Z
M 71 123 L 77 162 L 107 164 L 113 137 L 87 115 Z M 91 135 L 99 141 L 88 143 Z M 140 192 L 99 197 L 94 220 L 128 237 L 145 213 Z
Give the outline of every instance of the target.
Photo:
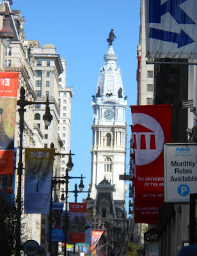
M 70 203 L 69 241 L 84 243 L 86 231 L 86 203 Z

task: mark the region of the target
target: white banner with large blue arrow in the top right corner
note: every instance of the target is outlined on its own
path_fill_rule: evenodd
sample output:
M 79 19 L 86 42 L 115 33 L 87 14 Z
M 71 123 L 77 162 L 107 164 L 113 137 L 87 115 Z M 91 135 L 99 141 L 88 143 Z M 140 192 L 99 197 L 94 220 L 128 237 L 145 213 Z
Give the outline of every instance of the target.
M 146 56 L 197 58 L 197 1 L 146 0 Z

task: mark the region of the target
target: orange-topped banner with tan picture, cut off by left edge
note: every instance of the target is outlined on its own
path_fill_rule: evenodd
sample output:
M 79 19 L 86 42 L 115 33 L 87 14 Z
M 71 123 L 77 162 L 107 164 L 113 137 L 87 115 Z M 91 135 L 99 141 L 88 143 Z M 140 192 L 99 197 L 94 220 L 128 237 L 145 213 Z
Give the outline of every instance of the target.
M 0 72 L 0 175 L 13 174 L 19 72 Z

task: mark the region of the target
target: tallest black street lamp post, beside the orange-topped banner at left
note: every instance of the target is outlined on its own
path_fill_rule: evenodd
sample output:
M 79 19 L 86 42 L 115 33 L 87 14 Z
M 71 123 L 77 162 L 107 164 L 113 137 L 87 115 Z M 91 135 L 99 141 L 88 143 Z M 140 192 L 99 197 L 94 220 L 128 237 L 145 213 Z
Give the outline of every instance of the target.
M 53 103 L 53 102 L 52 102 Z M 47 97 L 46 102 L 33 102 L 25 100 L 25 90 L 23 87 L 20 88 L 20 99 L 17 100 L 17 106 L 20 108 L 19 111 L 19 163 L 17 168 L 17 174 L 18 174 L 18 188 L 17 188 L 17 234 L 16 234 L 16 256 L 20 256 L 20 229 L 21 229 L 21 184 L 22 184 L 22 169 L 23 169 L 23 163 L 22 163 L 22 139 L 23 139 L 23 131 L 24 131 L 24 112 L 26 109 L 24 109 L 25 106 L 33 105 L 33 104 L 45 104 L 45 115 L 43 115 L 43 120 L 45 122 L 45 125 L 49 126 L 51 124 L 52 115 L 50 113 L 49 108 L 49 99 Z

